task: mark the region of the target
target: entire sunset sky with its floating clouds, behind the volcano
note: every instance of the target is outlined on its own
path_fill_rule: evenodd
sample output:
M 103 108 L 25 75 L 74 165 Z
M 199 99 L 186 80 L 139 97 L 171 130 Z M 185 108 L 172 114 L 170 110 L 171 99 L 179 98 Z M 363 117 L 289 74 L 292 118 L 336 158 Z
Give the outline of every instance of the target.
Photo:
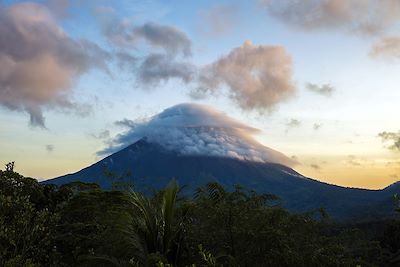
M 0 162 L 101 159 L 180 103 L 214 107 L 323 182 L 400 180 L 398 0 L 0 0 Z

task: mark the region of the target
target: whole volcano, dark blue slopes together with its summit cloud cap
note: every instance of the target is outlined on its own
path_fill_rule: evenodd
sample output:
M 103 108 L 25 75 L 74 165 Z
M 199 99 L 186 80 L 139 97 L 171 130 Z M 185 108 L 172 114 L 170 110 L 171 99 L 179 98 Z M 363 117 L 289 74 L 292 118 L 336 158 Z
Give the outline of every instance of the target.
M 307 178 L 290 166 L 295 162 L 267 148 L 251 134 L 257 130 L 199 105 L 172 107 L 117 136 L 99 162 L 76 173 L 44 181 L 97 183 L 110 189 L 113 177 L 151 193 L 176 179 L 190 195 L 208 182 L 228 190 L 240 185 L 277 195 L 292 212 L 324 208 L 336 219 L 381 219 L 394 215 L 392 197 L 400 184 L 383 190 L 345 188 Z M 129 142 L 132 142 L 129 144 Z M 113 152 L 117 150 L 116 152 Z

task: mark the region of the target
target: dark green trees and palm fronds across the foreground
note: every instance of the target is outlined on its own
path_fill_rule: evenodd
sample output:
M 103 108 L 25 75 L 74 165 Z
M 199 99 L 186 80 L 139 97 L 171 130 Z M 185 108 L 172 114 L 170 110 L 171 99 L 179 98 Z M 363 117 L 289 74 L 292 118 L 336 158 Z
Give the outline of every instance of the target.
M 121 187 L 119 187 L 121 188 Z M 395 197 L 398 207 L 398 197 Z M 400 221 L 343 225 L 216 183 L 182 198 L 0 171 L 0 266 L 398 266 Z

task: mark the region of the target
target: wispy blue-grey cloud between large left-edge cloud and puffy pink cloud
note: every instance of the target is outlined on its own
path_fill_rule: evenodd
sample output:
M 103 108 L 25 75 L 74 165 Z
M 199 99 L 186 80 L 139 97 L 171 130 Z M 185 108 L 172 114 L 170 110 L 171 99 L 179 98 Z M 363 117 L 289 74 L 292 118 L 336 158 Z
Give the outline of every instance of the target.
M 118 18 L 115 11 L 107 7 L 98 8 L 97 16 L 106 39 L 120 49 L 119 66 L 135 72 L 139 85 L 149 88 L 170 79 L 184 83 L 192 79 L 195 67 L 181 59 L 192 54 L 192 43 L 184 32 L 153 22 L 135 26 Z M 140 51 L 143 46 L 143 51 L 150 52 Z M 153 51 L 154 48 L 161 51 Z M 132 52 L 141 56 L 133 56 Z

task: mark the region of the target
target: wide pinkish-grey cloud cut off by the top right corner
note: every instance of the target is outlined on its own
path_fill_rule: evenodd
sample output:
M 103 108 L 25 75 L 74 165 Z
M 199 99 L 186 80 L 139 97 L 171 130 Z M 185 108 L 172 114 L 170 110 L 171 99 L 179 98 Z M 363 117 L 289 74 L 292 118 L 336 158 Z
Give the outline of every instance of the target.
M 338 29 L 377 35 L 400 20 L 398 0 L 266 0 L 262 3 L 271 16 L 302 30 Z

